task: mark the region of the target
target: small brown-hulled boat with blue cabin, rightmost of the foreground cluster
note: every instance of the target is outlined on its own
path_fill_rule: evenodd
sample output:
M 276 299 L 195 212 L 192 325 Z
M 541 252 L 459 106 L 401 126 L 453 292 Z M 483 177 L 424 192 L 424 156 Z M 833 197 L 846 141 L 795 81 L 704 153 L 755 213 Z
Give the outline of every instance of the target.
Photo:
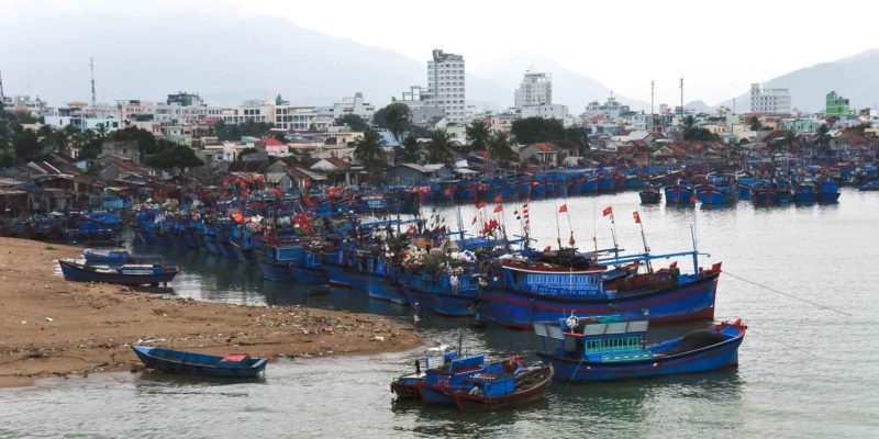
M 477 373 L 464 380 L 469 391 L 453 394 L 460 412 L 497 410 L 544 397 L 553 381 L 553 365 L 525 369 L 519 373 Z

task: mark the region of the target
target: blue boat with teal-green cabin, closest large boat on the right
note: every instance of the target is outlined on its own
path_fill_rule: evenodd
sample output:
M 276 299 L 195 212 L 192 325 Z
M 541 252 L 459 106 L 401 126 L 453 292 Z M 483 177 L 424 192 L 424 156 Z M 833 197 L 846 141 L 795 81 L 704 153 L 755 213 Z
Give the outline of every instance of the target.
M 705 372 L 738 364 L 742 319 L 646 345 L 647 320 L 577 318 L 535 324 L 537 357 L 566 382 L 613 381 Z

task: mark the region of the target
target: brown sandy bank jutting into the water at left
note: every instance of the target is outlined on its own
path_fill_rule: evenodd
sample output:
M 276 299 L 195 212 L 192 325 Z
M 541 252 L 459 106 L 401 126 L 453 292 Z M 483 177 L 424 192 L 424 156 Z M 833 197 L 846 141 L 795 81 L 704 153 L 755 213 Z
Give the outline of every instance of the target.
M 0 238 L 0 387 L 42 378 L 141 369 L 131 344 L 203 353 L 310 358 L 423 346 L 394 318 L 302 306 L 235 305 L 66 282 L 57 259 L 80 248 Z

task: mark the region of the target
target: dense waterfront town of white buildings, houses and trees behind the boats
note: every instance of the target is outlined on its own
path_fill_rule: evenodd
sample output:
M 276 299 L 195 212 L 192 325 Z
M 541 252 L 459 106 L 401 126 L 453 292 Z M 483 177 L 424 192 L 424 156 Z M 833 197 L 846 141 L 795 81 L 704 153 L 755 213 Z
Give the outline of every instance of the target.
M 256 175 L 299 193 L 501 170 L 711 164 L 735 171 L 782 158 L 854 167 L 879 149 L 877 110 L 852 108 L 833 90 L 824 111 L 811 114 L 791 108 L 787 89 L 758 83 L 748 112 L 666 103 L 635 111 L 613 95 L 577 111 L 553 102 L 550 72 L 528 70 L 511 90 L 514 106 L 485 111 L 467 103 L 461 55 L 435 49 L 426 67 L 426 85 L 383 108 L 359 91 L 325 106 L 280 94 L 221 106 L 186 91 L 103 103 L 93 81 L 90 101 L 53 106 L 0 88 L 0 201 L 7 215 L 65 211 L 109 188 L 152 194 Z

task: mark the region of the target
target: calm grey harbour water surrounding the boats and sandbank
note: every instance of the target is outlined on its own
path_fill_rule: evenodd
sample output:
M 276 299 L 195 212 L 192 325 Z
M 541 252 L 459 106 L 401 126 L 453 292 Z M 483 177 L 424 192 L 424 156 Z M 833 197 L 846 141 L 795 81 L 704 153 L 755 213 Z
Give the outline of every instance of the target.
M 564 201 L 533 202 L 533 235 L 557 236 Z M 696 223 L 704 262 L 833 307 L 843 315 L 728 275 L 719 318 L 743 317 L 750 331 L 739 367 L 635 382 L 554 384 L 545 402 L 514 412 L 458 414 L 392 404 L 388 384 L 412 369 L 416 352 L 272 363 L 262 383 L 205 383 L 155 373 L 47 380 L 0 391 L 0 437 L 879 437 L 879 193 L 846 190 L 838 205 L 755 209 L 748 202 L 704 211 L 639 206 L 634 192 L 567 200 L 579 245 L 611 243 L 601 210 L 613 205 L 623 247 L 642 247 L 632 212 L 641 211 L 654 252 L 691 248 Z M 508 203 L 508 229 L 518 233 Z M 598 212 L 598 214 L 597 214 Z M 430 213 L 430 212 L 429 212 Z M 455 222 L 456 213 L 438 209 Z M 472 209 L 461 216 L 469 224 Z M 568 217 L 559 216 L 563 241 Z M 136 247 L 138 252 L 159 249 Z M 411 311 L 332 290 L 318 293 L 264 282 L 256 266 L 163 250 L 183 273 L 174 292 L 212 301 L 305 304 L 411 318 Z M 689 268 L 681 260 L 682 268 Z M 431 344 L 457 344 L 466 319 L 432 319 Z M 663 327 L 652 337 L 705 324 Z M 468 351 L 527 352 L 528 331 L 468 328 Z M 533 357 L 532 357 L 533 359 Z

